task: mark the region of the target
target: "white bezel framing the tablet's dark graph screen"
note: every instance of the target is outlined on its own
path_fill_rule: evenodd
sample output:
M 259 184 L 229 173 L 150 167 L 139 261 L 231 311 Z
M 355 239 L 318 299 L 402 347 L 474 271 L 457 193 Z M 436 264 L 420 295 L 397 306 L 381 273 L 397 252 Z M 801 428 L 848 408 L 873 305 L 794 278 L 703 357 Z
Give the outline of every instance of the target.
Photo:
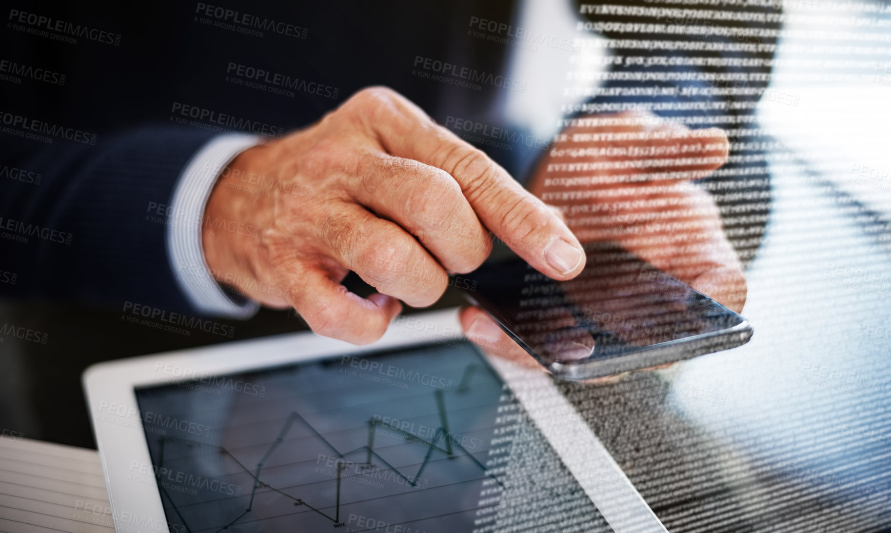
M 140 465 L 151 465 L 135 388 L 461 338 L 457 310 L 446 309 L 400 316 L 380 340 L 367 346 L 300 332 L 90 366 L 84 373 L 83 384 L 115 528 L 119 533 L 168 532 L 158 488 L 132 480 L 135 470 L 144 470 Z M 613 529 L 638 533 L 666 531 L 547 374 L 503 358 L 487 358 Z M 135 469 L 134 464 L 139 468 Z

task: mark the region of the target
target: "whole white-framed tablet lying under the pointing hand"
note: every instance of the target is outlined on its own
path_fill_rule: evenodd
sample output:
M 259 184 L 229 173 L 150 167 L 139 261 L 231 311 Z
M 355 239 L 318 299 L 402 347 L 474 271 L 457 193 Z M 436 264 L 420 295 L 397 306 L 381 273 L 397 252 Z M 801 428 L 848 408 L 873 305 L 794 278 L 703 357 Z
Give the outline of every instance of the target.
M 120 531 L 665 531 L 552 378 L 454 309 L 94 365 Z

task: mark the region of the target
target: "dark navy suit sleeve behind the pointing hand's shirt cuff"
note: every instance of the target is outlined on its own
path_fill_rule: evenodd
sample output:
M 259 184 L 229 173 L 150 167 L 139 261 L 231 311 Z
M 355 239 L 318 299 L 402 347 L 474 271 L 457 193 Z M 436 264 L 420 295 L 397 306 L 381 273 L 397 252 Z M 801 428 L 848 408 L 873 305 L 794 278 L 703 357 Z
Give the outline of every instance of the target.
M 44 145 L 4 135 L 0 270 L 15 283 L 0 291 L 192 310 L 169 265 L 164 206 L 212 136 L 161 126 L 100 135 L 95 145 Z

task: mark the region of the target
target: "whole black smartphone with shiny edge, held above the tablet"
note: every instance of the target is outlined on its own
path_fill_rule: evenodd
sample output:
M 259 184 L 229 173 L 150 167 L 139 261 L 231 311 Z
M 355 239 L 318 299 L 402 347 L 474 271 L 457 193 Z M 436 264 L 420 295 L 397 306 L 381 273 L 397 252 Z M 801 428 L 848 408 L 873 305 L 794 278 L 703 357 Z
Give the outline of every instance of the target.
M 505 246 L 450 283 L 554 375 L 586 380 L 748 342 L 748 320 L 614 242 L 585 244 L 587 264 L 559 282 Z

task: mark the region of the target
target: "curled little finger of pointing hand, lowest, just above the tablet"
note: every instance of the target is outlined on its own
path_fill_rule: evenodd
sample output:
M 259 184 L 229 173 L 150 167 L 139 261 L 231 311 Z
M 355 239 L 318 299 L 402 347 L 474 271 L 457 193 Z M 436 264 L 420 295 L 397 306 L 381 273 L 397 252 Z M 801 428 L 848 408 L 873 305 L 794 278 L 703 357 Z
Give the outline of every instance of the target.
M 380 339 L 402 310 L 397 299 L 380 293 L 362 298 L 320 269 L 309 268 L 295 276 L 295 281 L 294 308 L 324 337 L 368 344 Z

